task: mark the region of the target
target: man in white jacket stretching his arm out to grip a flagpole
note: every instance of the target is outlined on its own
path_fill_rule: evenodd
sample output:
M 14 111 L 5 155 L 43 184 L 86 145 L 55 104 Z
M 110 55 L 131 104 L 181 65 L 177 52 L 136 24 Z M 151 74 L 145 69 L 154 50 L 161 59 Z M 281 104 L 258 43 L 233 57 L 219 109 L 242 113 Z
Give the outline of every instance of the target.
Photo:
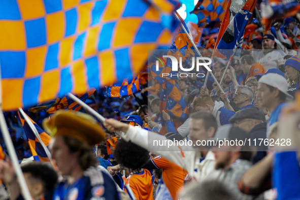
M 217 126 L 215 117 L 206 112 L 195 112 L 190 115 L 189 138 L 193 144 L 197 140 L 206 140 L 214 136 Z M 157 146 L 153 141 L 166 141 L 166 137 L 147 131 L 137 126 L 130 126 L 114 119 L 106 119 L 104 125 L 110 131 L 123 131 L 122 139 L 154 152 L 185 169 L 196 181 L 203 181 L 215 171 L 215 157 L 204 146 Z M 215 173 L 219 175 L 219 173 Z

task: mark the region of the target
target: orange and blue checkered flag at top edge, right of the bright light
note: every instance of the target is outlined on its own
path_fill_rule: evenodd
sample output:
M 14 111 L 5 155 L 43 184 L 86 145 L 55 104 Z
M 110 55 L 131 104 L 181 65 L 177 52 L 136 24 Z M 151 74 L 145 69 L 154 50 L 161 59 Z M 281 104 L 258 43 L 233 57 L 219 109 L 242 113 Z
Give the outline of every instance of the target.
M 214 27 L 222 21 L 227 3 L 227 0 L 199 0 L 190 14 L 197 15 L 198 27 Z

